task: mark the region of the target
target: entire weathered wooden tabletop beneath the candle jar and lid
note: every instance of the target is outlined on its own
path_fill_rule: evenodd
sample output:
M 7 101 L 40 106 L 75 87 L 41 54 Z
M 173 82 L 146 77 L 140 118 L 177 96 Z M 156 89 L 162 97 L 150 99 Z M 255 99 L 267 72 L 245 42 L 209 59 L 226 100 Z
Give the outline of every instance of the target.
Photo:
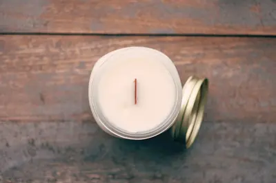
M 275 182 L 275 0 L 1 0 L 0 182 Z M 97 59 L 142 45 L 210 79 L 192 148 L 101 131 Z

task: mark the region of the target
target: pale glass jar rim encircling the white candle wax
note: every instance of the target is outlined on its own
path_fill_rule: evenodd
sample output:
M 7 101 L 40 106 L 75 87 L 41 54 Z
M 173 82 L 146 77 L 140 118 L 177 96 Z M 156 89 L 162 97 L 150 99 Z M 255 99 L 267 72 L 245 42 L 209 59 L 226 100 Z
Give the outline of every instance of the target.
M 172 77 L 172 80 L 175 83 L 175 93 L 176 93 L 175 105 L 172 107 L 170 114 L 168 114 L 167 118 L 159 125 L 157 125 L 155 128 L 150 129 L 148 131 L 139 131 L 138 133 L 131 133 L 128 131 L 124 131 L 123 129 L 120 129 L 116 125 L 112 124 L 111 122 L 108 122 L 108 120 L 101 113 L 101 109 L 99 109 L 98 101 L 95 100 L 95 98 L 97 98 L 97 92 L 95 92 L 95 89 L 97 88 L 97 83 L 99 82 L 99 77 L 101 75 L 100 73 L 102 72 L 101 66 L 104 63 L 107 63 L 108 61 L 110 61 L 112 56 L 114 56 L 115 54 L 130 54 L 133 51 L 148 52 L 148 55 L 152 55 L 152 56 L 155 56 L 156 58 L 159 58 L 157 60 L 160 61 L 162 64 L 164 64 L 164 66 L 168 70 L 168 73 Z M 146 138 L 152 138 L 153 136 L 157 136 L 160 133 L 169 129 L 173 125 L 175 118 L 177 118 L 179 109 L 181 107 L 182 87 L 181 87 L 181 80 L 177 72 L 177 69 L 175 67 L 175 64 L 172 63 L 172 61 L 168 56 L 166 56 L 166 54 L 149 47 L 124 47 L 119 50 L 114 50 L 112 52 L 109 52 L 108 54 L 99 58 L 99 60 L 95 64 L 95 67 L 93 67 L 92 72 L 90 74 L 88 94 L 89 94 L 90 109 L 92 110 L 92 114 L 96 122 L 100 125 L 100 127 L 105 128 L 106 129 L 105 131 L 115 136 L 119 136 L 120 138 L 142 140 Z

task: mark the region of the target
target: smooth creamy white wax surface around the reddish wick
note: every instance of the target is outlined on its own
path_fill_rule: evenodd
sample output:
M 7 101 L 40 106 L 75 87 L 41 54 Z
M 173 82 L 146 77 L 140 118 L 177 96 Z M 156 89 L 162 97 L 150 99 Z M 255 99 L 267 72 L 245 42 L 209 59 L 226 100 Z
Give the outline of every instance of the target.
M 157 58 L 123 54 L 108 58 L 101 69 L 98 103 L 112 125 L 131 133 L 148 131 L 164 122 L 172 111 L 176 100 L 175 82 Z

